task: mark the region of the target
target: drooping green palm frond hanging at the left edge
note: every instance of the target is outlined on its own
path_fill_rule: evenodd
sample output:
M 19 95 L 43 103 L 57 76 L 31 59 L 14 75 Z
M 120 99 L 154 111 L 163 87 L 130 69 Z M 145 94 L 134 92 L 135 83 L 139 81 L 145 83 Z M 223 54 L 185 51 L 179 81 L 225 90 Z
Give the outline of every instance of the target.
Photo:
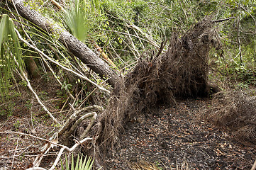
M 10 79 L 16 82 L 16 69 L 24 70 L 21 47 L 12 19 L 4 14 L 0 21 L 0 101 L 9 98 Z

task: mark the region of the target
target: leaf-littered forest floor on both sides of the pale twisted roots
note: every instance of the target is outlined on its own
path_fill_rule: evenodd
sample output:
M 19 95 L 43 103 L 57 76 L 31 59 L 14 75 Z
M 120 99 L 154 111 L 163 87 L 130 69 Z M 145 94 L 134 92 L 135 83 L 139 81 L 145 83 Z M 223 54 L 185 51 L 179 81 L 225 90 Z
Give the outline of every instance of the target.
M 45 105 L 58 120 L 65 120 L 69 115 L 65 110 L 60 112 L 63 101 L 56 97 L 56 89 L 53 85 L 40 87 L 38 94 L 45 98 Z M 0 131 L 24 132 L 49 139 L 58 128 L 33 96 L 22 98 L 15 101 L 11 116 L 0 118 Z M 119 144 L 108 152 L 106 166 L 108 169 L 142 169 L 142 166 L 148 167 L 145 169 L 250 169 L 256 158 L 254 144 L 237 140 L 232 132 L 199 119 L 199 113 L 210 102 L 206 98 L 177 101 L 177 107 L 160 106 L 131 121 L 124 127 Z M 38 148 L 43 145 L 44 141 L 33 137 L 1 133 L 0 170 L 31 167 L 33 159 L 40 154 Z M 56 152 L 49 155 L 56 157 Z

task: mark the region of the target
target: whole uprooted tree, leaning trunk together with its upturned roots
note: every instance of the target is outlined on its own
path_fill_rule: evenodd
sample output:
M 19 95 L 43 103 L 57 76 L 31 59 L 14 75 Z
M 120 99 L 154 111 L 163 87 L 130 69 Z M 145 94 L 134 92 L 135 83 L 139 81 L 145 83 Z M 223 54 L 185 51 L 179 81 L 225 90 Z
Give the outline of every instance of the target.
M 66 30 L 53 25 L 37 11 L 30 10 L 29 6 L 24 6 L 21 0 L 13 0 L 13 3 L 23 18 L 47 33 L 57 33 L 60 42 L 72 54 L 102 78 L 109 78 L 108 83 L 114 86 L 109 104 L 103 113 L 77 115 L 74 111 L 75 118 L 69 118 L 62 126 L 65 130 L 59 130 L 50 139 L 52 141 L 59 137 L 60 143 L 65 142 L 65 146 L 72 146 L 74 143 L 70 140 L 70 134 L 78 135 L 74 132 L 75 129 L 86 128 L 78 138 L 83 140 L 90 136 L 94 139 L 90 147 L 84 147 L 83 151 L 94 155 L 97 166 L 101 165 L 99 153 L 106 153 L 106 149 L 113 147 L 118 142 L 123 126 L 143 115 L 143 111 L 160 103 L 175 105 L 175 98 L 207 96 L 210 91 L 208 52 L 212 45 L 216 45 L 216 31 L 211 17 L 196 23 L 180 38 L 177 34 L 172 35 L 167 52 L 162 54 L 165 47 L 165 43 L 162 43 L 157 55 L 150 59 L 140 58 L 135 68 L 126 77 L 121 77 Z M 90 123 L 84 123 L 87 116 L 93 116 Z M 46 151 L 43 152 L 47 154 Z M 40 162 L 36 164 L 39 165 Z

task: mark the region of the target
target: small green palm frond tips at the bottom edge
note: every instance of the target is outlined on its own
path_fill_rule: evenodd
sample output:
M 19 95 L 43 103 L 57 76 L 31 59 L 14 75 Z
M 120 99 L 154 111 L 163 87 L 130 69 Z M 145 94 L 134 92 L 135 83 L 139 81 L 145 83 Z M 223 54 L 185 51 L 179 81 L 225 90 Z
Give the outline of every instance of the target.
M 79 154 L 78 154 L 77 160 L 76 160 L 77 163 L 74 165 L 74 155 L 72 154 L 71 166 L 69 168 L 69 162 L 67 160 L 67 157 L 65 157 L 65 159 L 66 159 L 66 168 L 63 166 L 61 161 L 62 170 L 90 170 L 94 163 L 94 159 L 91 160 L 91 157 L 89 157 L 88 159 L 87 157 L 85 157 L 83 159 L 83 155 L 81 156 L 81 158 L 79 158 Z

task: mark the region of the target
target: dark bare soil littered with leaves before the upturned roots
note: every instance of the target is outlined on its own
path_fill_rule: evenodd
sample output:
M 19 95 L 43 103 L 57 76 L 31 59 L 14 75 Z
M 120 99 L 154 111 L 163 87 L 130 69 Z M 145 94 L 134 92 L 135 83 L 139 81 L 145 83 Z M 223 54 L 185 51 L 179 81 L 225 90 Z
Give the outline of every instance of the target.
M 199 120 L 208 103 L 179 101 L 176 108 L 155 108 L 130 122 L 119 145 L 108 154 L 108 169 L 132 169 L 140 162 L 160 169 L 250 169 L 255 145 Z

